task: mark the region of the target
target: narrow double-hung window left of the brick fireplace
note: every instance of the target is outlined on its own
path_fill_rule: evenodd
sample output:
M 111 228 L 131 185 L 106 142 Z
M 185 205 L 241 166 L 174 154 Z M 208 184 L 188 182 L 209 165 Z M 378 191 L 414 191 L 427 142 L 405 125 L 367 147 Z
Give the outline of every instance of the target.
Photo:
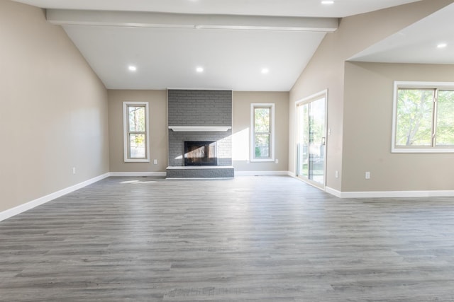
M 148 103 L 123 102 L 125 162 L 149 162 Z

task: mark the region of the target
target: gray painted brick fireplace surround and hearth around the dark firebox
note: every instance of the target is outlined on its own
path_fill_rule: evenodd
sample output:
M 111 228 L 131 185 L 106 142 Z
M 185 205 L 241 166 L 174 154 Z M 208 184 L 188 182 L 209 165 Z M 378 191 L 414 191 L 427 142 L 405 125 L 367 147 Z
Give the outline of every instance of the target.
M 232 91 L 170 89 L 167 108 L 167 178 L 232 178 Z M 217 165 L 184 166 L 184 141 L 216 141 Z

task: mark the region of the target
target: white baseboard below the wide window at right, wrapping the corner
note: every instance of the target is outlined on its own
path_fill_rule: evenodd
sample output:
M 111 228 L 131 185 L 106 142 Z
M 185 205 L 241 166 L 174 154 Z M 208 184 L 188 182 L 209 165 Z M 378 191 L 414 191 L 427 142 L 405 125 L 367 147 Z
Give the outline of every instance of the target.
M 326 187 L 325 190 L 339 198 L 454 197 L 453 190 L 341 192 L 331 187 Z

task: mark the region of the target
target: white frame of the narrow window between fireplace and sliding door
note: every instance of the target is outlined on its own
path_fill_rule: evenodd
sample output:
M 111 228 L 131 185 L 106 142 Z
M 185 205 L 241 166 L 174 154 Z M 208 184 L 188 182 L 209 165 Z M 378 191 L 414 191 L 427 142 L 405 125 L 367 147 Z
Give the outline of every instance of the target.
M 255 108 L 270 108 L 270 157 L 255 158 Z M 274 103 L 251 103 L 250 104 L 250 158 L 253 162 L 275 161 L 275 104 Z

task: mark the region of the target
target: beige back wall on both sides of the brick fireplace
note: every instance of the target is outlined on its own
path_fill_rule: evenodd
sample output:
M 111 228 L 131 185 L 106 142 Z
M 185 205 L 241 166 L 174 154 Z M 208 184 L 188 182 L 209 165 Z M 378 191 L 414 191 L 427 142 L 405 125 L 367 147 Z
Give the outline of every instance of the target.
M 226 92 L 227 94 L 227 92 Z M 233 95 L 232 132 L 209 139 L 231 139 L 233 167 L 237 172 L 276 172 L 287 171 L 289 128 L 288 92 L 243 92 L 228 91 Z M 163 173 L 168 165 L 167 153 L 167 91 L 109 90 L 109 163 L 111 172 L 151 172 Z M 123 161 L 123 101 L 149 102 L 150 108 L 150 163 L 125 163 Z M 279 163 L 249 163 L 250 103 L 276 104 L 276 158 Z M 228 110 L 228 108 L 226 108 Z M 177 120 L 177 119 L 175 119 Z M 176 122 L 176 121 L 175 121 Z M 217 124 L 219 125 L 219 124 Z M 174 132 L 173 134 L 177 134 Z M 227 134 L 227 137 L 226 137 Z M 188 134 L 185 134 L 188 135 Z M 190 139 L 190 137 L 188 137 Z M 178 138 L 182 141 L 182 137 Z M 208 140 L 209 140 L 208 139 Z M 177 144 L 177 151 L 182 146 Z M 173 158 L 175 159 L 174 156 Z M 228 153 L 224 158 L 230 158 Z M 157 161 L 157 164 L 154 163 Z M 230 165 L 227 161 L 225 165 Z M 172 165 L 182 165 L 181 160 Z

